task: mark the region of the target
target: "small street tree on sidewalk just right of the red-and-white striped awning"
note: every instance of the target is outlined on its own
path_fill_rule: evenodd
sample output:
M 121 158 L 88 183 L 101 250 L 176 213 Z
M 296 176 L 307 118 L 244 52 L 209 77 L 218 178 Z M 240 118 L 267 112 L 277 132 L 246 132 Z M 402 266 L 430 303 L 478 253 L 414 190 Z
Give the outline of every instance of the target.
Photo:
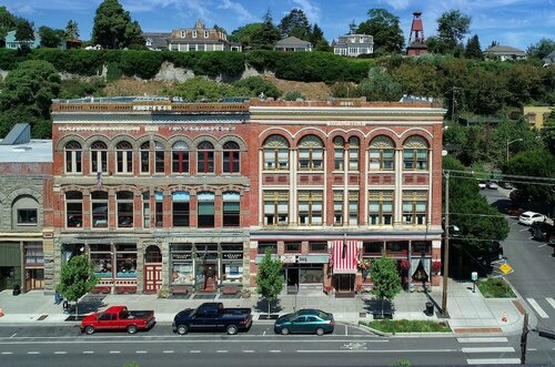
M 382 253 L 382 257 L 372 261 L 370 276 L 374 283 L 372 294 L 382 300 L 383 317 L 384 298 L 391 300 L 401 292 L 401 275 L 397 272 L 397 264 L 393 257 Z

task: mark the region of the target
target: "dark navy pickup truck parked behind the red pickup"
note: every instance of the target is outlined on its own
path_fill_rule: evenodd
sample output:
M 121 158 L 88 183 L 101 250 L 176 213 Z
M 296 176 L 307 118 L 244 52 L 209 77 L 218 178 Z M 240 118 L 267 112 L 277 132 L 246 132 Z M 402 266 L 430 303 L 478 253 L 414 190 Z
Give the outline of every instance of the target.
M 204 303 L 175 315 L 173 333 L 184 335 L 190 330 L 225 330 L 229 335 L 235 335 L 251 327 L 251 308 L 224 308 L 222 303 Z

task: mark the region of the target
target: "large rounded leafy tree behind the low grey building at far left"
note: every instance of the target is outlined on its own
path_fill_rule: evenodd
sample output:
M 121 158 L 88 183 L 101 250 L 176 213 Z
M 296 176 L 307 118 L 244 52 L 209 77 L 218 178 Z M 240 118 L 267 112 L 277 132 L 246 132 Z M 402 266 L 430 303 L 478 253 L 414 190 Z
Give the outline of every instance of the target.
M 33 137 L 50 137 L 50 108 L 60 83 L 58 70 L 47 61 L 23 61 L 10 71 L 0 94 L 0 135 L 26 121 L 31 124 Z

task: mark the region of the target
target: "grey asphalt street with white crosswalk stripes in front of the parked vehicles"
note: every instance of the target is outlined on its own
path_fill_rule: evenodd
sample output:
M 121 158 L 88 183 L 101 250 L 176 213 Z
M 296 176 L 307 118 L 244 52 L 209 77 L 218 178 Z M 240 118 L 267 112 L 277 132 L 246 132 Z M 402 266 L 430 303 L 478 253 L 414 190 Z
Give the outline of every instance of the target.
M 542 341 L 545 341 L 542 340 Z M 235 336 L 194 333 L 178 336 L 169 325 L 128 335 L 81 335 L 74 326 L 2 327 L 0 366 L 411 366 L 518 364 L 519 338 L 379 337 L 339 325 L 331 335 L 274 335 L 254 325 Z M 528 350 L 527 363 L 554 363 L 555 345 Z

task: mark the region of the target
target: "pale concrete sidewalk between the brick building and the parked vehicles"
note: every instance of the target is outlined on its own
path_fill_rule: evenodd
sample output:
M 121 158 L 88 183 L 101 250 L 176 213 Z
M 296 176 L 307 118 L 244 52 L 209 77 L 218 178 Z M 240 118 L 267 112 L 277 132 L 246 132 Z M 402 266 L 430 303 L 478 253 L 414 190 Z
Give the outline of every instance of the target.
M 430 297 L 430 298 L 428 298 Z M 372 320 L 372 314 L 366 308 L 365 300 L 371 299 L 369 294 L 357 295 L 355 298 L 335 298 L 329 295 L 282 295 L 272 314 L 285 314 L 300 308 L 320 308 L 333 313 L 339 322 L 357 324 L 360 320 Z M 268 313 L 264 300 L 255 295 L 250 298 L 214 298 L 198 299 L 161 299 L 157 295 L 88 295 L 80 304 L 80 314 L 95 309 L 104 309 L 113 305 L 125 305 L 130 309 L 153 309 L 159 323 L 171 323 L 174 315 L 189 307 L 196 307 L 204 302 L 222 302 L 225 307 L 251 307 L 254 320 L 261 314 Z M 424 314 L 426 302 L 435 303 L 435 313 L 432 316 Z M 438 307 L 442 304 L 442 287 L 433 287 L 426 295 L 422 292 L 401 292 L 394 298 L 394 319 L 430 319 L 443 320 L 438 317 Z M 472 292 L 472 283 L 460 283 L 450 279 L 446 319 L 457 334 L 516 334 L 522 330 L 524 309 L 518 299 L 487 299 L 476 287 Z M 44 295 L 42 290 L 32 290 L 13 296 L 11 290 L 0 293 L 0 307 L 4 314 L 0 317 L 2 324 L 63 324 L 68 314 L 61 305 L 53 304 L 52 295 Z M 503 316 L 506 315 L 506 318 Z

